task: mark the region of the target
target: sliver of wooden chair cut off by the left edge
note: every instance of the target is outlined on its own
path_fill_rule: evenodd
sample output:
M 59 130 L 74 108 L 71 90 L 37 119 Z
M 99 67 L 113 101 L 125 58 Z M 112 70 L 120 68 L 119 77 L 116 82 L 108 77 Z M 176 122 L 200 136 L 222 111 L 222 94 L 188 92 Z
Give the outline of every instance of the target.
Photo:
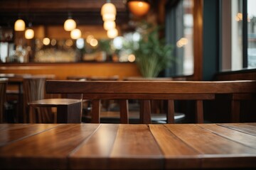
M 0 123 L 4 122 L 4 103 L 6 102 L 6 86 L 8 83 L 8 79 L 1 78 L 0 79 Z

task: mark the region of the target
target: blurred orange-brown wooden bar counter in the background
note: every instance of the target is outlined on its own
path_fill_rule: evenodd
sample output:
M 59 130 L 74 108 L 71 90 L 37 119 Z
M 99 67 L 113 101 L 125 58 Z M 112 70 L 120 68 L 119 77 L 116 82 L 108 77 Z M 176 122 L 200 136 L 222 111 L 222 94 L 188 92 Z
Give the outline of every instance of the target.
M 69 76 L 140 77 L 135 63 L 129 62 L 76 62 L 76 63 L 1 63 L 0 74 L 55 74 L 56 79 Z

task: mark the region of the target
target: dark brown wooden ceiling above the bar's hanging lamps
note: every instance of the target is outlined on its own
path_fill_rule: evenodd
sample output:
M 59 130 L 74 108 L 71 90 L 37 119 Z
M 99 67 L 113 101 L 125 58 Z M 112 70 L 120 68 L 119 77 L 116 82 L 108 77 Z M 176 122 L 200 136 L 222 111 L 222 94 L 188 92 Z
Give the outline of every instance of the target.
M 125 0 L 111 0 L 117 8 L 116 23 L 129 21 Z M 62 25 L 68 13 L 78 25 L 102 25 L 100 8 L 106 0 L 0 0 L 0 26 L 14 26 L 21 17 L 26 23 L 37 25 Z

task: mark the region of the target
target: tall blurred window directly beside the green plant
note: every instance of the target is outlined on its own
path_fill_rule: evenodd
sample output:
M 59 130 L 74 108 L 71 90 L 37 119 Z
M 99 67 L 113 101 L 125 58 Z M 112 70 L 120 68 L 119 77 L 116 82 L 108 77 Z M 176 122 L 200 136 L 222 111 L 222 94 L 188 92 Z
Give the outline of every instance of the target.
M 193 0 L 170 1 L 166 7 L 166 38 L 176 62 L 167 76 L 193 74 Z

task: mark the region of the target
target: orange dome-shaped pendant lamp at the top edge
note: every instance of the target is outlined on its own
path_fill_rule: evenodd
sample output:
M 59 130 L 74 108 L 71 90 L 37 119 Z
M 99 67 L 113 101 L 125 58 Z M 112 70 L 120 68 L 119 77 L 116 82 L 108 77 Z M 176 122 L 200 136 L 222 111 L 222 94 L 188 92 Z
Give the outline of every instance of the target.
M 145 1 L 128 1 L 128 7 L 134 16 L 144 16 L 148 13 L 150 5 Z

